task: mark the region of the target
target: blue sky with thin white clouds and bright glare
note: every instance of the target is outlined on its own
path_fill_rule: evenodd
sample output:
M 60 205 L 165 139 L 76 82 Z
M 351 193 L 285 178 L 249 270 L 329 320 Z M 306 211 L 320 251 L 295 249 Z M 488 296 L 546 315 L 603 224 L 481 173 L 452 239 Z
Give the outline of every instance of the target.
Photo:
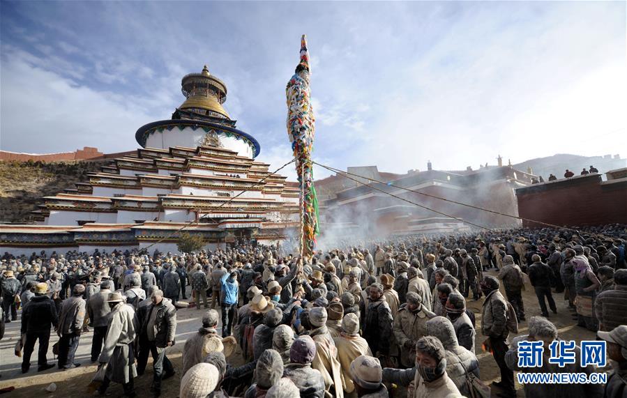
M 6 151 L 134 149 L 206 63 L 278 167 L 302 33 L 319 162 L 402 173 L 627 148 L 625 2 L 1 1 L 0 15 Z

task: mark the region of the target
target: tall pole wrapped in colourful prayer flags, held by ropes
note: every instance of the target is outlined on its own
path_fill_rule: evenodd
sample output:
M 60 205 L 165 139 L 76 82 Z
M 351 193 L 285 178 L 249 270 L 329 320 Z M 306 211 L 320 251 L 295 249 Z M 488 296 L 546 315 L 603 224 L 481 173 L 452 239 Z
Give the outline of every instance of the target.
M 301 61 L 289 79 L 287 95 L 287 137 L 292 142 L 296 173 L 301 188 L 301 255 L 311 257 L 318 228 L 318 199 L 313 185 L 311 153 L 315 134 L 315 118 L 311 108 L 309 52 L 307 38 L 301 38 Z

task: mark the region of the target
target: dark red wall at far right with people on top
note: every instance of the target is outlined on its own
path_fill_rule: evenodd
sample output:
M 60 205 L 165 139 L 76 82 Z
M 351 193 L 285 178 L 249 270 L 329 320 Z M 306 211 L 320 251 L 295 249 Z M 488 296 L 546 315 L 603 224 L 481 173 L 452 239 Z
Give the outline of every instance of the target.
M 627 223 L 627 181 L 577 176 L 516 190 L 520 217 L 556 225 Z M 543 227 L 523 221 L 525 227 Z

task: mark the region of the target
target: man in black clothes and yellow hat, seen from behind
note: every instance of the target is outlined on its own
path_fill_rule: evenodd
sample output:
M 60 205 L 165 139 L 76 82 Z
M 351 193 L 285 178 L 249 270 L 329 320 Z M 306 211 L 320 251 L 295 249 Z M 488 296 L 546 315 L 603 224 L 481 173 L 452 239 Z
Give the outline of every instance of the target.
M 31 367 L 31 355 L 35 349 L 35 342 L 39 340 L 38 372 L 50 369 L 54 365 L 49 364 L 46 358 L 48 344 L 50 344 L 50 328 L 57 325 L 57 313 L 54 302 L 46 295 L 48 285 L 45 282 L 38 283 L 35 288 L 35 297 L 22 309 L 22 335 L 26 335 L 24 342 L 24 360 L 22 360 L 22 373 L 27 373 Z

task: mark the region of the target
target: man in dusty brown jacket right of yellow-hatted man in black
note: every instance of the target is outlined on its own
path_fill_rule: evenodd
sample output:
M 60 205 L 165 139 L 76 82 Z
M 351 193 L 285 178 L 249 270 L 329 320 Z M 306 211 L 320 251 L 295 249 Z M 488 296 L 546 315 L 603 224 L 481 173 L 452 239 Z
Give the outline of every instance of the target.
M 77 284 L 72 290 L 72 296 L 63 300 L 59 314 L 59 326 L 56 334 L 59 335 L 59 369 L 79 367 L 74 363 L 74 354 L 78 348 L 83 321 L 85 319 L 85 300 L 82 296 L 85 286 Z

